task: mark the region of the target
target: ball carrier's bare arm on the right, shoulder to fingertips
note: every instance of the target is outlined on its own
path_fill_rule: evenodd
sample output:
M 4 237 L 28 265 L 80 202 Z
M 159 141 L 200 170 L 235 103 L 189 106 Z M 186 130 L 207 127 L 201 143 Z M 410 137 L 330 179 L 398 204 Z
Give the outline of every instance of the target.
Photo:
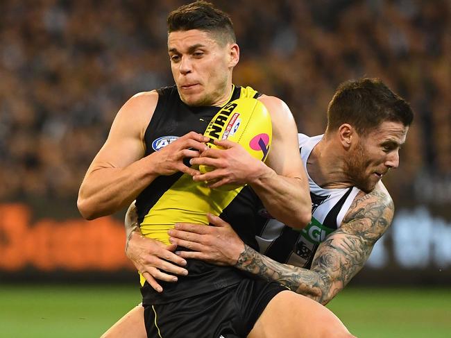
M 271 114 L 273 141 L 266 164 L 252 158 L 230 141 L 215 144 L 226 150 L 207 149 L 192 164 L 216 169 L 194 176 L 194 180 L 213 181 L 210 187 L 224 184 L 249 184 L 266 210 L 293 228 L 304 228 L 312 218 L 307 175 L 299 156 L 298 132 L 288 106 L 273 96 L 260 99 Z

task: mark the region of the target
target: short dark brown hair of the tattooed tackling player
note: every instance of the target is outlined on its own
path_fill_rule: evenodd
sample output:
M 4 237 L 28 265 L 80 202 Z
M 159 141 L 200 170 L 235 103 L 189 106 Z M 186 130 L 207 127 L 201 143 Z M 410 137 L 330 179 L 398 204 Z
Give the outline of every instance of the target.
M 409 103 L 378 78 L 341 83 L 327 108 L 327 131 L 350 124 L 362 134 L 384 121 L 410 126 L 413 120 L 414 112 Z

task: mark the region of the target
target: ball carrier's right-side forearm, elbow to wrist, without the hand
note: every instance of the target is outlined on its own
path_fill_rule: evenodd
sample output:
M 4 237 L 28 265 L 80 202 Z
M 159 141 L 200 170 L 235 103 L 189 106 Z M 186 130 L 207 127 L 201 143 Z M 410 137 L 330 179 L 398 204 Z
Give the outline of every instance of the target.
M 305 228 L 312 219 L 309 187 L 300 179 L 280 176 L 265 166 L 264 174 L 253 180 L 250 186 L 271 216 L 287 226 Z

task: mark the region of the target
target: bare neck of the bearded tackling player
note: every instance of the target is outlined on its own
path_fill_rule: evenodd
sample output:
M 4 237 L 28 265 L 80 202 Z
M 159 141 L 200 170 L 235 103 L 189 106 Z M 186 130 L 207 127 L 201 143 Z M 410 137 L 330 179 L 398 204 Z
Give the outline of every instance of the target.
M 314 146 L 307 159 L 309 176 L 319 187 L 325 189 L 346 188 L 353 185 L 346 175 L 346 164 L 334 142 L 321 140 Z

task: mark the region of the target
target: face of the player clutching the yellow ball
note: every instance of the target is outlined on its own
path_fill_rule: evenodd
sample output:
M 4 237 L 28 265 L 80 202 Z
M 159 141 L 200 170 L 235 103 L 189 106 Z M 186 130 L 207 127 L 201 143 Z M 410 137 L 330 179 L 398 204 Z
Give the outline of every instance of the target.
M 171 71 L 187 105 L 221 105 L 229 99 L 239 50 L 237 44 L 223 46 L 215 37 L 197 29 L 169 33 Z

